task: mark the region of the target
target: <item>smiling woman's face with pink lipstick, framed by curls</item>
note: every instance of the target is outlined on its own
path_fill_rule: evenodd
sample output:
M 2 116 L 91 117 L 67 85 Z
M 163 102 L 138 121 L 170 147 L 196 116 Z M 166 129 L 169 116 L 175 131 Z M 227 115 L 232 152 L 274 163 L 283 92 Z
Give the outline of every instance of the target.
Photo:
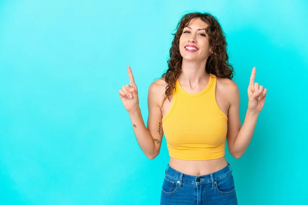
M 201 18 L 192 18 L 180 37 L 180 53 L 185 60 L 205 60 L 211 50 L 205 28 L 208 24 Z

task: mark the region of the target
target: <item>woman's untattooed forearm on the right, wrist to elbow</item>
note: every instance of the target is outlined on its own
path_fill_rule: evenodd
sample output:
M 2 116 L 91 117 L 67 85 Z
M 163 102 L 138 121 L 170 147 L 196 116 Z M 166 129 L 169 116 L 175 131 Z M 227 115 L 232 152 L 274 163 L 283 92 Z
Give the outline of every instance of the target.
M 237 134 L 233 145 L 233 156 L 241 157 L 248 148 L 257 124 L 259 112 L 247 110 L 243 126 Z

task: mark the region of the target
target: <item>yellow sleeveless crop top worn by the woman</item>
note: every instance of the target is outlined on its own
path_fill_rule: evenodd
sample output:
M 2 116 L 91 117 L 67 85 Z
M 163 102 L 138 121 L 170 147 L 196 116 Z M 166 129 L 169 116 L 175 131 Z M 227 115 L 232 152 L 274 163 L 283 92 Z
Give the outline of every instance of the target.
M 176 80 L 171 108 L 162 119 L 170 157 L 205 160 L 225 155 L 228 118 L 217 105 L 216 82 L 210 74 L 208 85 L 190 94 Z

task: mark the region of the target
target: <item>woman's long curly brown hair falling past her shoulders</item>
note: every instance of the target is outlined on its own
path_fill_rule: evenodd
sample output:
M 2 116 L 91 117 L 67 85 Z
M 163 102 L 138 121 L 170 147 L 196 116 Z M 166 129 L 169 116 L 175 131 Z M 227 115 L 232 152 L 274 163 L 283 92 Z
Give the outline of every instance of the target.
M 211 47 L 213 53 L 207 58 L 205 71 L 221 78 L 232 79 L 234 77 L 235 72 L 233 70 L 233 66 L 228 63 L 229 57 L 227 54 L 225 33 L 223 32 L 218 20 L 209 13 L 194 12 L 185 14 L 177 25 L 176 33 L 172 33 L 172 35 L 174 35 L 174 39 L 172 40 L 171 48 L 169 50 L 170 58 L 167 60 L 168 69 L 162 75 L 162 78 L 164 78 L 168 84 L 166 86 L 163 103 L 166 98 L 170 100 L 170 96 L 173 94 L 173 90 L 175 88 L 176 79 L 181 73 L 183 57 L 180 54 L 179 48 L 180 37 L 183 29 L 190 23 L 192 18 L 201 18 L 203 22 L 209 25 L 205 32 L 209 37 L 209 46 Z

